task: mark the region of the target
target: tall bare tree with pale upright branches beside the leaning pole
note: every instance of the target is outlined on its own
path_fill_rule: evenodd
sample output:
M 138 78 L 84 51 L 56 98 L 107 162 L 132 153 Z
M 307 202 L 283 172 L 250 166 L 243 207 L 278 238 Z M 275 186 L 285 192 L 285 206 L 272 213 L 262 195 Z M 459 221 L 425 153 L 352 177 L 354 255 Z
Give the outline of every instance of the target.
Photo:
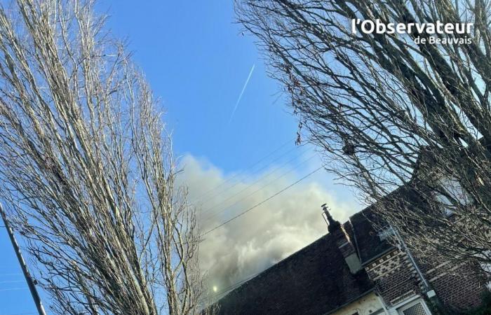
M 149 85 L 93 1 L 0 8 L 0 185 L 58 314 L 196 314 L 199 233 Z

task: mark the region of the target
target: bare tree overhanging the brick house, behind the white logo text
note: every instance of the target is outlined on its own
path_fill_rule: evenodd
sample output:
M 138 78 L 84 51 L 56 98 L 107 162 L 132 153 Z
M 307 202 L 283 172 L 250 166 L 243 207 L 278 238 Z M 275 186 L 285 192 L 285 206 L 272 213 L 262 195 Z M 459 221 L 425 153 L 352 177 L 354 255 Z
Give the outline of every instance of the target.
M 236 10 L 330 171 L 379 202 L 420 255 L 491 262 L 490 1 L 241 0 Z M 353 31 L 353 19 L 424 29 Z M 438 21 L 473 26 L 431 34 Z M 402 199 L 384 198 L 399 187 Z

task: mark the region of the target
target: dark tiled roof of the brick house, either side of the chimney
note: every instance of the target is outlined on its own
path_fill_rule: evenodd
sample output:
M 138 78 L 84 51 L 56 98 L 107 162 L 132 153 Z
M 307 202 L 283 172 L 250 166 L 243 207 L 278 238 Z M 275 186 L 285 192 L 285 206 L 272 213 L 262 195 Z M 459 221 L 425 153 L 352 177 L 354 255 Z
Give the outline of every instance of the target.
M 348 221 L 344 228 L 368 258 L 388 247 L 384 241 L 376 244 L 379 238 L 365 213 L 370 214 L 369 209 L 351 217 L 354 225 Z M 351 274 L 334 238 L 327 234 L 243 283 L 217 304 L 219 314 L 227 315 L 328 314 L 373 288 L 364 269 Z

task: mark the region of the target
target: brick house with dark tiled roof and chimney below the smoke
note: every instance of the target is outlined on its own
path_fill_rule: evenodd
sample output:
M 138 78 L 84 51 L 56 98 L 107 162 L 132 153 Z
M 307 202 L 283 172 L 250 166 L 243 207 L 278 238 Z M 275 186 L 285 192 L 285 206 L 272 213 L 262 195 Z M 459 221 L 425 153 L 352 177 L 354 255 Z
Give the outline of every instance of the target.
M 222 297 L 220 314 L 427 315 L 436 306 L 479 306 L 486 279 L 464 272 L 471 266 L 422 264 L 370 207 L 343 224 L 324 211 L 328 234 Z

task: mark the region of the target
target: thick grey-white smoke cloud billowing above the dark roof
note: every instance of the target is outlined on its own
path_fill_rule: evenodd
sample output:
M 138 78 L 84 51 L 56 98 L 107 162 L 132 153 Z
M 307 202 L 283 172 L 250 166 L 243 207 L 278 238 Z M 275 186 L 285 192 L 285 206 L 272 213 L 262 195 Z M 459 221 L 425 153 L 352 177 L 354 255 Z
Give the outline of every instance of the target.
M 275 169 L 271 166 L 261 174 L 233 177 L 234 174 L 225 176 L 210 162 L 191 155 L 185 156 L 182 162 L 181 180 L 189 186 L 189 201 L 200 209 L 203 232 L 262 202 L 310 170 L 304 169 L 298 174 L 291 172 L 278 179 L 291 167 L 276 168 L 271 173 Z M 336 197 L 344 189 L 342 186 L 327 189 L 321 183 L 320 176 L 326 176 L 325 171 L 317 172 L 316 176 L 205 236 L 200 260 L 202 269 L 208 272 L 210 288 L 220 292 L 324 235 L 327 226 L 321 216 L 321 204 L 327 203 L 332 208 L 332 215 L 341 222 L 359 209 L 354 200 Z M 220 187 L 209 192 L 217 186 Z

